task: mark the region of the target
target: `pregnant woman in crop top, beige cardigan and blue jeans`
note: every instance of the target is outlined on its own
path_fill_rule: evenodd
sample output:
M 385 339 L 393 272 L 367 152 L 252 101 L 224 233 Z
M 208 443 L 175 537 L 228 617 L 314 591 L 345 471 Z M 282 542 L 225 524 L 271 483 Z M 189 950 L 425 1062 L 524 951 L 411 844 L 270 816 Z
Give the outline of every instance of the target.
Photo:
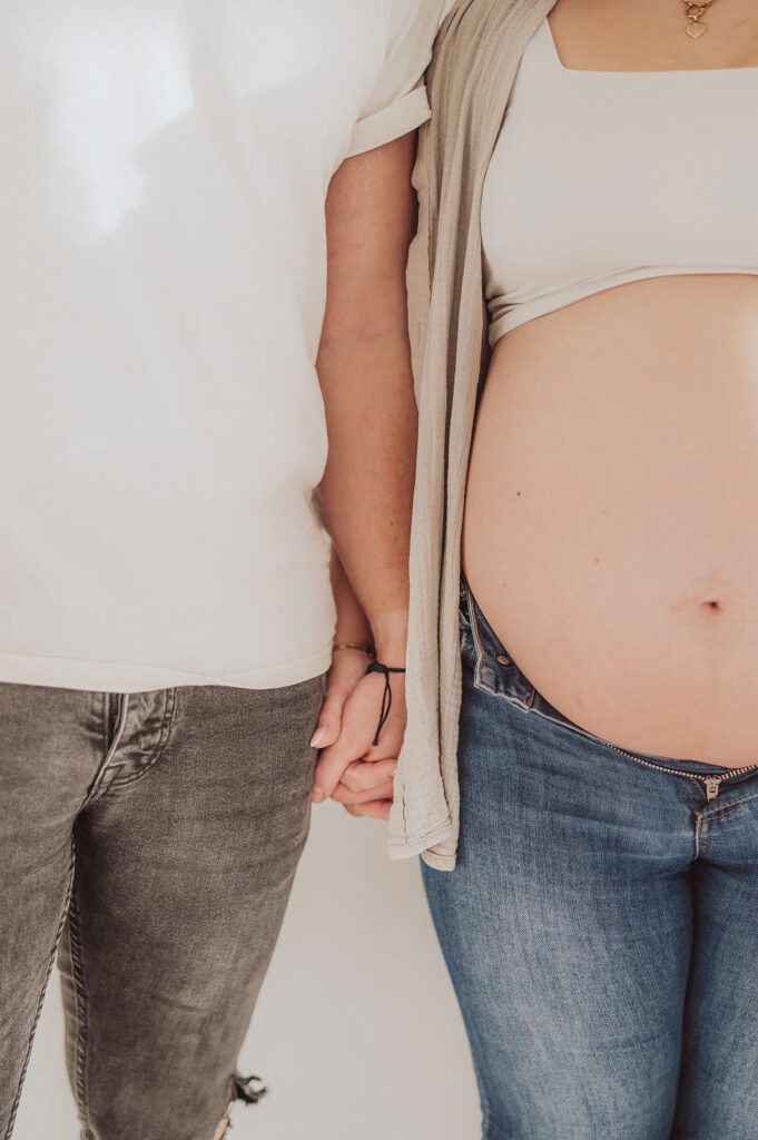
M 484 1135 L 756 1140 L 758 6 L 460 0 L 430 85 L 408 749 L 423 699 L 442 779 L 414 754 L 399 798 Z

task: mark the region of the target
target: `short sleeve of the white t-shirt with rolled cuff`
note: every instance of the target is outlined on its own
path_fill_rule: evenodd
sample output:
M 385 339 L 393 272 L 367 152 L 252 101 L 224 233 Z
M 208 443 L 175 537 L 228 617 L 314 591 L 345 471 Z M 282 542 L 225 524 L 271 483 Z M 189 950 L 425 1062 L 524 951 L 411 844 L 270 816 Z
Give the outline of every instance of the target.
M 348 157 L 407 135 L 430 115 L 423 78 L 440 24 L 455 0 L 386 0 L 384 63 L 352 132 Z

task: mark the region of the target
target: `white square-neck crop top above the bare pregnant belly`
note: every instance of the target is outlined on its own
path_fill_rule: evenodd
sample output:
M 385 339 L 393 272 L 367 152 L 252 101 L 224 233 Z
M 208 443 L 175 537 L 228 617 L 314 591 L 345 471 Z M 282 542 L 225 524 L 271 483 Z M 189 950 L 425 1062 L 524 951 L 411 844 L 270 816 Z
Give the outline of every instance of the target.
M 626 282 L 758 274 L 758 67 L 564 67 L 547 21 L 484 182 L 490 343 Z

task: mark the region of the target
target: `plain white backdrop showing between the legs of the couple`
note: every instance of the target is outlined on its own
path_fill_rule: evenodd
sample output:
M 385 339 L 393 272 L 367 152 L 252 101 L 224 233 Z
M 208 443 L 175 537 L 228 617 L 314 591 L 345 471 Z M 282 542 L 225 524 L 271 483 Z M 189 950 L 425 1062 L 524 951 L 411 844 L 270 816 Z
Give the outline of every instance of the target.
M 418 865 L 388 862 L 382 824 L 332 804 L 315 809 L 241 1067 L 260 1073 L 271 1093 L 235 1108 L 230 1140 L 480 1137 L 468 1049 Z M 78 1140 L 55 974 L 14 1140 Z

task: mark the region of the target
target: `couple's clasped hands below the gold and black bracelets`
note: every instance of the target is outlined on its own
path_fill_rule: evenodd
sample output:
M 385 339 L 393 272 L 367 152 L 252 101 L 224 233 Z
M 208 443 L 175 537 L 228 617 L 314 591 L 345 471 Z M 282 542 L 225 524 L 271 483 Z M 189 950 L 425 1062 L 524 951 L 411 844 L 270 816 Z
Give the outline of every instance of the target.
M 318 762 L 311 796 L 315 804 L 332 797 L 351 815 L 389 817 L 406 727 L 404 675 L 391 674 L 390 685 L 392 707 L 376 746 L 373 741 L 382 711 L 384 677 L 369 674 L 353 687 L 343 705 L 340 734 Z

